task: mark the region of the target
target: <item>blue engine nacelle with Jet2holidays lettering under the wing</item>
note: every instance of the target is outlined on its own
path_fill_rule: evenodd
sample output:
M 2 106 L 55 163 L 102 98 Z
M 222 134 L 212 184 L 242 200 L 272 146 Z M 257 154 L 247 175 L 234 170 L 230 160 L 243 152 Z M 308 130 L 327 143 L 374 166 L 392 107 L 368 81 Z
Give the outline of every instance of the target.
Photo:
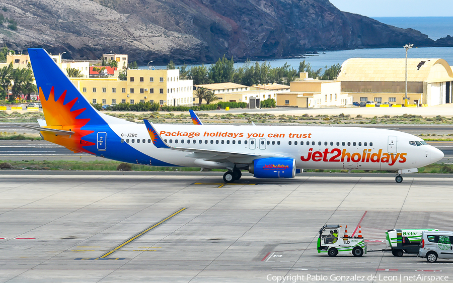
M 269 157 L 253 160 L 249 172 L 256 178 L 293 178 L 295 159 L 289 157 Z

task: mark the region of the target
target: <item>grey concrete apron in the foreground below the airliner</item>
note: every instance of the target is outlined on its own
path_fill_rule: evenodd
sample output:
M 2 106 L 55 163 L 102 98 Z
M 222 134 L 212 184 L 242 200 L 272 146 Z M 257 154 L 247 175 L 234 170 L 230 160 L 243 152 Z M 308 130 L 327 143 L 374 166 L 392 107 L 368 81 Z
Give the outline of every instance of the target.
M 219 176 L 207 173 L 2 172 L 1 179 L 0 282 L 453 278 L 447 260 L 316 251 L 326 223 L 348 225 L 352 233 L 361 220 L 368 250 L 385 247 L 388 229 L 451 230 L 449 178 L 408 175 L 398 184 L 368 175 L 244 176 L 222 187 Z

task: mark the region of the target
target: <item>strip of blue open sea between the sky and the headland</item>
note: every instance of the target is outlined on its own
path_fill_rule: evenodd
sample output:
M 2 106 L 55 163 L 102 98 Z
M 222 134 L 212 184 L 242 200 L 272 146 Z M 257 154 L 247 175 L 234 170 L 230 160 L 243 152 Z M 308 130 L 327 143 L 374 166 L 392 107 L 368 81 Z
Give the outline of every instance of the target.
M 374 17 L 373 19 L 402 29 L 412 28 L 433 40 L 447 35 L 453 36 L 453 17 Z

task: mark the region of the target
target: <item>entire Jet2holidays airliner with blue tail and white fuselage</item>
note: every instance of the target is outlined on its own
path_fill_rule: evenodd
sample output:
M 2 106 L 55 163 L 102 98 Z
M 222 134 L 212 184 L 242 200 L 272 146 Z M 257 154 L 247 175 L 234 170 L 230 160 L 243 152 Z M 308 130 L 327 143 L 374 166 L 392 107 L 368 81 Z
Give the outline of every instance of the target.
M 42 137 L 73 152 L 153 166 L 220 168 L 225 182 L 248 170 L 292 178 L 301 169 L 417 172 L 443 153 L 413 135 L 356 127 L 135 124 L 98 112 L 44 49 L 28 49 L 45 120 Z

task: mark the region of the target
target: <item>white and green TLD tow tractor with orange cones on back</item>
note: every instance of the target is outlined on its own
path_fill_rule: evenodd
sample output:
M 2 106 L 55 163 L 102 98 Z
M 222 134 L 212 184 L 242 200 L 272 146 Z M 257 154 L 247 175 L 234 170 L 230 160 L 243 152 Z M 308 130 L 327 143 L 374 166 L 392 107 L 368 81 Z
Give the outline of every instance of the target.
M 361 234 L 352 238 L 345 233 L 344 237 L 339 237 L 340 228 L 340 225 L 324 225 L 319 230 L 318 253 L 327 253 L 329 256 L 366 254 L 366 243 Z

